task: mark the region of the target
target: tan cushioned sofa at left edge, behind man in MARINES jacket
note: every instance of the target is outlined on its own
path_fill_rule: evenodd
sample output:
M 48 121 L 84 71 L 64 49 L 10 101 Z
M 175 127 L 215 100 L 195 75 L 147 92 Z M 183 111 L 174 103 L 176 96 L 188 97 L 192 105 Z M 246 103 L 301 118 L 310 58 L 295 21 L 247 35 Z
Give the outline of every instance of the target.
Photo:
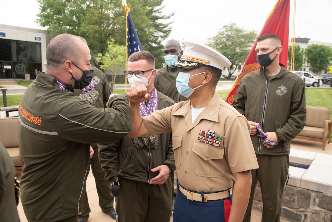
M 19 150 L 18 124 L 18 117 L 0 118 L 0 141 L 12 158 L 16 173 L 21 173 L 23 166 Z

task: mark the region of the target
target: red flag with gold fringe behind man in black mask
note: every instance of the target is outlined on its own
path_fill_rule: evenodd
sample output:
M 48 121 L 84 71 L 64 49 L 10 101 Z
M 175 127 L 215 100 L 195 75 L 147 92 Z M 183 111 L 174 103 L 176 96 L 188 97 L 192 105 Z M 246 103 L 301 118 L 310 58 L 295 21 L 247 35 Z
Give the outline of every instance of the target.
M 278 0 L 275 6 L 273 7 L 270 15 L 265 21 L 264 27 L 259 34 L 276 34 L 280 40 L 283 47 L 283 51 L 280 54 L 279 61 L 285 65 L 287 69 L 288 63 L 288 34 L 289 34 L 289 23 L 290 23 L 290 0 Z M 246 61 L 243 64 L 243 67 L 237 76 L 234 85 L 229 92 L 226 102 L 232 105 L 235 93 L 240 84 L 241 79 L 252 71 L 259 69 L 260 65 L 256 62 L 256 44 L 252 47 Z

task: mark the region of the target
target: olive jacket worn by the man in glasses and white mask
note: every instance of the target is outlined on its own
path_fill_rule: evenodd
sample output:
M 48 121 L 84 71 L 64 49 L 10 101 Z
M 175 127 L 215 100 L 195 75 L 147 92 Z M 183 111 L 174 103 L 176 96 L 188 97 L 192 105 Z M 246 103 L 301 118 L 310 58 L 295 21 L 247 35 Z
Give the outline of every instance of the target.
M 127 98 L 125 94 L 114 96 L 110 101 Z M 172 106 L 174 101 L 158 92 L 158 110 Z M 136 148 L 129 136 L 112 144 L 98 144 L 99 161 L 105 171 L 106 181 L 113 182 L 118 176 L 149 183 L 159 172 L 151 169 L 159 165 L 167 165 L 170 173 L 175 170 L 174 153 L 172 149 L 172 133 L 160 134 L 159 145 L 148 148 L 146 145 Z

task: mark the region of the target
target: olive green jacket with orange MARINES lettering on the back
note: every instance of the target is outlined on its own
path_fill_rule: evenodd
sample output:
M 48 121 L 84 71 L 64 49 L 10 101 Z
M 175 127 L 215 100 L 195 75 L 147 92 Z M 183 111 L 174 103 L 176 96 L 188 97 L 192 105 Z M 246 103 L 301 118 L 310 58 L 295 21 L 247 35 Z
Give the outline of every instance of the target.
M 131 131 L 126 100 L 96 109 L 36 70 L 19 106 L 22 206 L 29 221 L 58 221 L 80 212 L 89 143 L 112 143 Z

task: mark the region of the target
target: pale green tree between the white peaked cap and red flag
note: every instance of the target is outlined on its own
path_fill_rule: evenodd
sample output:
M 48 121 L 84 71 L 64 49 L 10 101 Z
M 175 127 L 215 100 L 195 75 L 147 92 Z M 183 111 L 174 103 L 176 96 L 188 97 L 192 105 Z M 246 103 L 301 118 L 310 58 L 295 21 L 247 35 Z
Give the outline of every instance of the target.
M 226 56 L 232 63 L 228 67 L 228 78 L 240 70 L 245 62 L 257 34 L 253 30 L 239 28 L 235 23 L 223 26 L 212 38 L 208 39 L 207 45 Z

